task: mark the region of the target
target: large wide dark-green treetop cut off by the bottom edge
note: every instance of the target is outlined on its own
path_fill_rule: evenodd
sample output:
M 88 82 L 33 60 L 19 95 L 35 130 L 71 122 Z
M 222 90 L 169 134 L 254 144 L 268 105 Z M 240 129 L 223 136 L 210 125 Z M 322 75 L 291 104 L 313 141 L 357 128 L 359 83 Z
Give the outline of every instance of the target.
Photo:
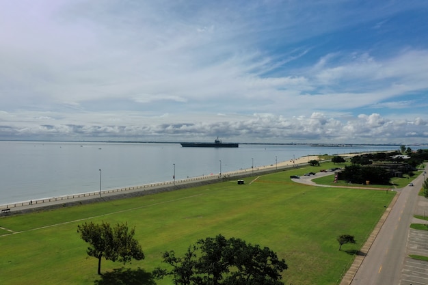
M 199 240 L 183 258 L 165 252 L 163 262 L 172 269 L 157 268 L 153 274 L 159 279 L 172 275 L 175 285 L 280 285 L 281 273 L 288 268 L 268 247 L 221 234 Z

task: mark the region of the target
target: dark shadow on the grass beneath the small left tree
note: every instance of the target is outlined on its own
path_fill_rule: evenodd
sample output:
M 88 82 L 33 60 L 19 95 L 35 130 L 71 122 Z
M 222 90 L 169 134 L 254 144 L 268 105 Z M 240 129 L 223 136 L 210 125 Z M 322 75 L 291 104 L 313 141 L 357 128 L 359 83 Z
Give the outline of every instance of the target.
M 152 273 L 144 269 L 113 269 L 112 272 L 104 273 L 101 280 L 96 280 L 95 285 L 156 285 Z

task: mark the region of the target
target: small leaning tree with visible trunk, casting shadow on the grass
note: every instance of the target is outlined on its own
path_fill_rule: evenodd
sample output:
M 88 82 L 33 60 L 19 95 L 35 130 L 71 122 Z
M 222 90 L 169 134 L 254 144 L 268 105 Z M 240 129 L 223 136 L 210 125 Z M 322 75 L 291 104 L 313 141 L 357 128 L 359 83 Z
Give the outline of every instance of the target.
M 123 262 L 144 259 L 144 253 L 138 241 L 133 239 L 135 228 L 129 231 L 126 223 L 118 223 L 111 228 L 109 223 L 83 223 L 77 226 L 83 241 L 90 244 L 88 256 L 98 258 L 98 274 L 101 275 L 101 259 Z

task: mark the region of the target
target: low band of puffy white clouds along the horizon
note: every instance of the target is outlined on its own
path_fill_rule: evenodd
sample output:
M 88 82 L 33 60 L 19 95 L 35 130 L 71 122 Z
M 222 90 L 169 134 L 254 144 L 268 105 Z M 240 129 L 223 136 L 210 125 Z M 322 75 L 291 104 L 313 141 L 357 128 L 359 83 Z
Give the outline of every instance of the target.
M 23 139 L 27 135 L 39 139 L 111 139 L 111 140 L 152 140 L 176 141 L 189 139 L 204 140 L 217 135 L 233 141 L 263 142 L 269 137 L 271 142 L 325 142 L 337 143 L 337 140 L 351 143 L 397 143 L 417 142 L 415 139 L 427 137 L 427 122 L 420 118 L 412 121 L 391 120 L 377 113 L 367 116 L 360 114 L 357 118 L 341 121 L 325 116 L 323 113 L 312 113 L 311 116 L 285 118 L 269 113 L 254 114 L 235 120 L 225 120 L 218 116 L 217 120 L 200 120 L 199 122 L 181 121 L 175 116 L 159 118 L 157 124 L 147 124 L 147 120 L 138 116 L 126 117 L 126 113 L 116 114 L 121 120 L 109 121 L 99 114 L 88 123 L 87 118 L 80 124 L 58 124 L 52 120 L 23 120 L 15 122 L 8 128 L 0 127 L 1 137 Z M 122 117 L 123 116 L 123 117 Z M 240 118 L 241 117 L 241 118 Z M 30 118 L 30 116 L 28 116 Z M 200 117 L 198 117 L 200 118 Z M 229 117 L 226 117 L 229 118 Z M 96 121 L 103 122 L 97 124 Z M 172 123 L 174 122 L 174 123 Z

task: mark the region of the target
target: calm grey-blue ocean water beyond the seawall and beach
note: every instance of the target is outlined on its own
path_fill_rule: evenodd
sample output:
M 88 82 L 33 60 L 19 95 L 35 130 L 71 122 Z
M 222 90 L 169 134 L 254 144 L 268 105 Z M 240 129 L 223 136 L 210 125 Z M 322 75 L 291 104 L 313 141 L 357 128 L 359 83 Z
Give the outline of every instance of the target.
M 180 144 L 0 141 L 0 204 L 218 174 L 308 154 L 397 150 L 399 146 L 245 145 L 183 148 Z M 221 161 L 221 162 L 220 162 Z M 99 171 L 101 169 L 101 172 Z

